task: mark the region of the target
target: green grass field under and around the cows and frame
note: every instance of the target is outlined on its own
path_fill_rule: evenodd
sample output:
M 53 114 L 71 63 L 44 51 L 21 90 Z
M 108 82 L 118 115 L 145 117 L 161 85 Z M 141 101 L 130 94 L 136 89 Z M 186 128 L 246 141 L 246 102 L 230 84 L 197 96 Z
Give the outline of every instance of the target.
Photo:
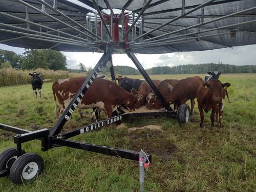
M 188 76 L 195 75 L 151 77 Z M 200 129 L 196 104 L 195 115 L 182 126 L 171 118 L 137 117 L 124 120 L 121 129 L 106 126 L 72 139 L 133 151 L 143 148 L 151 153 L 146 191 L 255 191 L 256 75 L 222 74 L 220 80 L 231 83 L 228 93 L 232 100 L 228 103 L 226 99 L 221 129 L 210 129 L 209 114 L 205 128 Z M 41 98 L 33 97 L 30 84 L 0 88 L 0 122 L 28 130 L 36 125 L 39 129 L 52 127 L 56 119 L 51 86 L 44 83 Z M 74 127 L 90 122 L 89 118 L 80 119 L 77 112 L 72 115 Z M 160 125 L 162 131 L 127 131 L 148 124 Z M 15 146 L 12 136 L 0 130 L 0 152 Z M 26 185 L 0 178 L 0 191 L 139 191 L 139 165 L 135 161 L 68 147 L 41 152 L 39 141 L 24 143 L 23 149 L 44 159 L 42 175 Z

